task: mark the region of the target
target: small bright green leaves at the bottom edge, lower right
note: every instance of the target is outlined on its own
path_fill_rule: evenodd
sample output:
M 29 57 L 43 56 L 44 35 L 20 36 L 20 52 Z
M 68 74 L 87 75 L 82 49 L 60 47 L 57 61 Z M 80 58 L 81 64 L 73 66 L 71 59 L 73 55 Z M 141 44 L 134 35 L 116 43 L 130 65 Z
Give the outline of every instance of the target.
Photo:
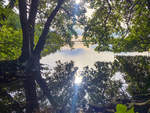
M 127 106 L 123 104 L 117 104 L 115 113 L 135 113 L 135 112 L 134 112 L 134 107 L 127 110 Z

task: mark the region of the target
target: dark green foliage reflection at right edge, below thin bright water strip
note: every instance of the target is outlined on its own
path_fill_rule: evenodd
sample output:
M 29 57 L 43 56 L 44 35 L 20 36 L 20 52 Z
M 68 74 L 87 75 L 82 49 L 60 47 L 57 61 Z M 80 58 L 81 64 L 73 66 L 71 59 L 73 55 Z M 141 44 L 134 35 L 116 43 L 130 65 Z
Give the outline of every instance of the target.
M 115 61 L 118 71 L 125 73 L 124 78 L 129 84 L 129 93 L 136 99 L 138 94 L 148 94 L 149 58 L 147 57 L 117 57 Z M 133 60 L 134 59 L 134 60 Z M 131 71 L 132 70 L 132 71 Z M 138 98 L 137 98 L 138 99 Z M 142 97 L 143 99 L 143 97 Z

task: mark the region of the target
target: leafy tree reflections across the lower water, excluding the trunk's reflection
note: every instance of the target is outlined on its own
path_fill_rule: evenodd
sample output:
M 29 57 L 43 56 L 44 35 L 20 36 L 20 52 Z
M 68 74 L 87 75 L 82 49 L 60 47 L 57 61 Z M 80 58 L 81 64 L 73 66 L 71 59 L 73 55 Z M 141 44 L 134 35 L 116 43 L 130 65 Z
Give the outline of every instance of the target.
M 74 67 L 73 62 L 61 63 L 58 61 L 53 70 L 42 66 L 42 79 L 48 84 L 48 89 L 51 89 L 48 92 L 58 106 L 57 109 L 53 108 L 38 88 L 41 111 L 47 110 L 50 113 L 73 111 L 75 113 L 82 110 L 86 113 L 113 113 L 116 105 L 122 103 L 129 105 L 128 107 L 134 106 L 139 113 L 147 113 L 150 107 L 149 64 L 149 58 L 146 57 L 117 57 L 113 64 L 96 62 L 94 68 L 85 67 L 83 69 L 81 72 L 83 79 L 80 85 L 74 83 L 77 67 Z M 124 73 L 123 77 L 128 84 L 127 92 L 131 95 L 130 98 L 126 92 L 121 90 L 121 81 L 112 79 L 114 73 L 118 71 Z M 3 108 L 1 110 L 7 109 L 6 113 L 13 110 L 20 113 L 20 110 L 25 108 L 25 95 L 22 88 L 18 88 L 17 91 L 4 88 L 0 90 L 2 99 L 0 108 Z

